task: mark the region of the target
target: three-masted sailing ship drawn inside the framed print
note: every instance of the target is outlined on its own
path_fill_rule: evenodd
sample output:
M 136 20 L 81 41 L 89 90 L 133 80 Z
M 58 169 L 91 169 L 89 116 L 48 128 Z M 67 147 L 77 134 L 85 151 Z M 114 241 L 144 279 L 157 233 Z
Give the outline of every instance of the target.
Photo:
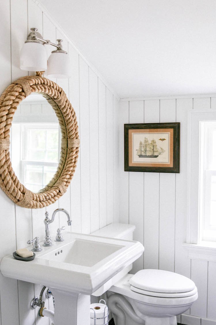
M 163 148 L 157 146 L 156 141 L 153 139 L 150 143 L 145 137 L 144 141 L 140 141 L 139 149 L 136 149 L 137 156 L 140 158 L 157 158 L 160 154 L 165 152 Z

